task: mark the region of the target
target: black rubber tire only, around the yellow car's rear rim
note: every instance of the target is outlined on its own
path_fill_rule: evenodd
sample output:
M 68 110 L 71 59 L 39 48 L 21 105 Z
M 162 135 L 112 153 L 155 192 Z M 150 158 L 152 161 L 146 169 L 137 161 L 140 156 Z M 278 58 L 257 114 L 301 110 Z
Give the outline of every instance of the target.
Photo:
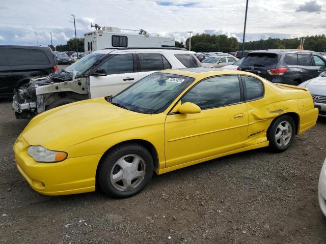
M 286 144 L 281 146 L 280 144 L 282 143 L 280 139 L 277 139 L 276 134 L 280 133 L 280 129 L 278 128 L 279 125 L 286 125 L 288 123 L 291 126 L 291 131 L 288 131 L 288 135 L 291 136 L 288 139 L 285 139 Z M 273 122 L 270 124 L 268 130 L 267 130 L 267 139 L 269 141 L 269 149 L 271 151 L 274 151 L 275 153 L 281 153 L 282 151 L 285 151 L 288 149 L 292 142 L 293 138 L 295 136 L 295 123 L 294 120 L 291 116 L 289 115 L 282 115 L 280 117 L 277 117 L 276 119 L 273 120 Z M 281 131 L 282 132 L 282 131 Z M 283 135 L 283 132 L 281 133 Z

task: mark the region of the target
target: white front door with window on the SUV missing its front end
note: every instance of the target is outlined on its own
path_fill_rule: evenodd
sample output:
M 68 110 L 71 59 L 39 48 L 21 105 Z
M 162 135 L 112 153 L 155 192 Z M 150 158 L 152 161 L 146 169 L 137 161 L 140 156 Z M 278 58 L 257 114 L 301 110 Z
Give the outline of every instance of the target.
M 104 69 L 107 75 L 90 76 L 91 98 L 116 95 L 138 81 L 135 51 L 113 54 L 97 69 Z

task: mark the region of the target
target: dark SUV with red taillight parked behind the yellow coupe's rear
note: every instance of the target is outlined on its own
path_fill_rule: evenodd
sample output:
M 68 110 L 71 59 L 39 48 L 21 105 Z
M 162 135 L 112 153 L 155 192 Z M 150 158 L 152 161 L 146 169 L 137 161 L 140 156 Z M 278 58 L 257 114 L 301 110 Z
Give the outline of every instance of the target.
M 260 50 L 250 52 L 238 70 L 254 73 L 271 82 L 298 85 L 326 71 L 326 60 L 313 51 Z

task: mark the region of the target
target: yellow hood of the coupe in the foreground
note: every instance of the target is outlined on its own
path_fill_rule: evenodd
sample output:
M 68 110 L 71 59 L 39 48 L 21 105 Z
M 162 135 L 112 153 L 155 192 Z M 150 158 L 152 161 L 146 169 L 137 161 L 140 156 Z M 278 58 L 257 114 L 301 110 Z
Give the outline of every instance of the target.
M 30 145 L 62 150 L 79 142 L 129 129 L 136 124 L 134 120 L 148 116 L 151 115 L 112 105 L 104 98 L 90 99 L 37 115 L 21 136 Z

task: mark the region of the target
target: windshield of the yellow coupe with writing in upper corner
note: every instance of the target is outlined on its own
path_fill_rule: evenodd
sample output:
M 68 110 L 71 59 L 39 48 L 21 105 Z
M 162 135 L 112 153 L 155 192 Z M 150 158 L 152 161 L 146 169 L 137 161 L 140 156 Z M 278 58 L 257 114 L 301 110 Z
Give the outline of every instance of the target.
M 112 104 L 139 113 L 160 113 L 194 80 L 181 75 L 153 73 L 116 95 Z

